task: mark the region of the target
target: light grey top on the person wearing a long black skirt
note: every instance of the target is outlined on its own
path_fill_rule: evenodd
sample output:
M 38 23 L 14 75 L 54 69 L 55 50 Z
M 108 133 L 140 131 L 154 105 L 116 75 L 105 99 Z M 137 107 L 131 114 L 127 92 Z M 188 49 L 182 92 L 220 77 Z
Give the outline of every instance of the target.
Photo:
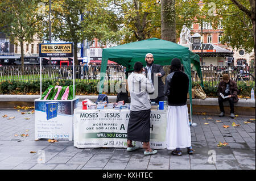
M 151 102 L 148 93 L 155 91 L 154 86 L 143 74 L 131 73 L 127 79 L 131 95 L 131 111 L 150 110 Z

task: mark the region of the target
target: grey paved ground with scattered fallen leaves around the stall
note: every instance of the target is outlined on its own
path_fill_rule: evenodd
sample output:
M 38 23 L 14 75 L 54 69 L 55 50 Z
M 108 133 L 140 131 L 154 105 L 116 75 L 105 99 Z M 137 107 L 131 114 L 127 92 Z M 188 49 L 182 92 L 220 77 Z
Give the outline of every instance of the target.
M 186 149 L 183 149 L 183 155 L 177 157 L 167 149 L 158 150 L 156 155 L 144 156 L 143 149 L 127 153 L 126 149 L 118 148 L 77 149 L 73 141 L 35 141 L 34 114 L 22 115 L 20 112 L 31 110 L 0 110 L 0 169 L 255 169 L 255 121 L 243 124 L 243 121 L 255 117 L 238 116 L 230 119 L 216 115 L 193 115 L 193 122 L 198 124 L 191 128 L 195 155 L 188 155 Z M 14 119 L 8 119 L 13 116 Z M 241 126 L 232 127 L 233 122 Z M 229 125 L 229 128 L 223 128 L 224 124 Z M 28 136 L 22 137 L 20 134 Z M 228 142 L 229 145 L 217 147 L 220 141 Z M 216 158 L 216 162 L 212 163 L 212 158 Z

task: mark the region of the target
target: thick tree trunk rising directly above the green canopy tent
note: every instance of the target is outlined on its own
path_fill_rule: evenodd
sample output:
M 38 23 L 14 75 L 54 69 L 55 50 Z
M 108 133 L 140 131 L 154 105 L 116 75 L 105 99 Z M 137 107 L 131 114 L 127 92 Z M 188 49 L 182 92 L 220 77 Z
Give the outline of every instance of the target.
M 176 43 L 175 0 L 161 1 L 161 38 Z

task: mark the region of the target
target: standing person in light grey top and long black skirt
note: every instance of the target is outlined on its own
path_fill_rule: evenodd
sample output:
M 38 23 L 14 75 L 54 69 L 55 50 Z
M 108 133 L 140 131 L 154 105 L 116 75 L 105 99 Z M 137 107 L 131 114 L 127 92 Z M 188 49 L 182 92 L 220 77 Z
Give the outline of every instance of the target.
M 157 150 L 150 148 L 150 108 L 148 93 L 154 92 L 154 86 L 142 74 L 142 62 L 134 64 L 134 72 L 128 77 L 128 87 L 131 96 L 131 113 L 127 129 L 127 151 L 137 150 L 132 141 L 143 142 L 144 155 L 156 154 Z

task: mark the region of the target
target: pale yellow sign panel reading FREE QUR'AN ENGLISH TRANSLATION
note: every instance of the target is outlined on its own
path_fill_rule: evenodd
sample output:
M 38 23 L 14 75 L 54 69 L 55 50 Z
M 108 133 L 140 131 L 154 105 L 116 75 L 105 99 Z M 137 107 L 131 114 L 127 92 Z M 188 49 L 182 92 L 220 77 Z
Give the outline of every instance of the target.
M 41 45 L 42 53 L 72 53 L 71 44 Z

